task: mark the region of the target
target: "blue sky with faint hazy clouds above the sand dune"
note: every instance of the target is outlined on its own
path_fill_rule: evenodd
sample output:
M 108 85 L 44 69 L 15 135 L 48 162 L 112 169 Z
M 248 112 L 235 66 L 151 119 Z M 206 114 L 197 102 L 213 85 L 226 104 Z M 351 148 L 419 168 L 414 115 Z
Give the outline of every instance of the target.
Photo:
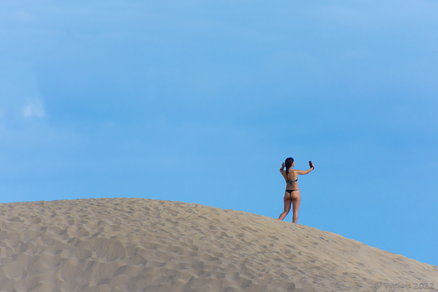
M 3 1 L 0 202 L 278 217 L 292 156 L 316 167 L 298 181 L 299 224 L 438 265 L 437 14 L 406 0 Z

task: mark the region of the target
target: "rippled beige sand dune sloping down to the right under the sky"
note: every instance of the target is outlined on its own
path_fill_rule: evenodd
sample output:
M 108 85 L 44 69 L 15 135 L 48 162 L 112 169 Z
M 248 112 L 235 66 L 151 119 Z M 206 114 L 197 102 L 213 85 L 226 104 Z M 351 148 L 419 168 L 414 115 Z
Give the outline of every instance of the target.
M 438 268 L 241 211 L 137 198 L 0 204 L 1 291 L 420 291 L 415 283 L 438 291 Z

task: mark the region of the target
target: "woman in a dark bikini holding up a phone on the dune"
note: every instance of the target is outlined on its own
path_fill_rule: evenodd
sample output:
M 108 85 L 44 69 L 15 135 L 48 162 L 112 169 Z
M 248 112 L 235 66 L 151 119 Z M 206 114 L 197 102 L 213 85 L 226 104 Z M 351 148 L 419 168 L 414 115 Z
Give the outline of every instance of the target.
M 287 213 L 290 211 L 290 205 L 292 203 L 292 222 L 296 223 L 298 221 L 298 209 L 300 208 L 300 189 L 298 189 L 298 174 L 308 174 L 315 167 L 312 161 L 309 161 L 310 168 L 308 170 L 294 170 L 292 169 L 295 165 L 294 159 L 289 157 L 286 159 L 285 163 L 281 164 L 280 172 L 286 180 L 286 191 L 285 191 L 285 211 L 281 213 L 279 220 L 284 220 Z M 284 168 L 286 167 L 286 171 Z

